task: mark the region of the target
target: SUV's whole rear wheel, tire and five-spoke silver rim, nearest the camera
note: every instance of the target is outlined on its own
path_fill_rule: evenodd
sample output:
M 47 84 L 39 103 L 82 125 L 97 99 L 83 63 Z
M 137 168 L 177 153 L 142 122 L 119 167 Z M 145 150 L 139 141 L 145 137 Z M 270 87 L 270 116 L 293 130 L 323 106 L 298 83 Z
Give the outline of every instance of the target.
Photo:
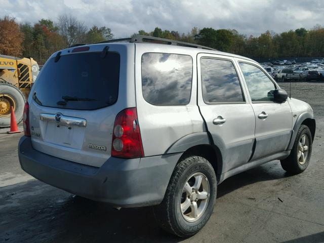
M 192 217 L 194 212 L 192 208 L 194 208 L 195 192 L 192 191 L 189 197 L 187 191 L 190 191 L 190 188 L 193 189 L 194 183 L 198 181 L 196 178 L 199 176 L 202 178 L 199 192 L 203 188 L 204 190 L 206 189 L 205 192 L 200 192 L 204 193 L 206 199 L 199 199 L 196 201 L 198 210 L 200 206 L 203 207 L 200 208 L 200 214 L 196 215 L 197 217 L 194 218 Z M 192 180 L 192 178 L 194 178 L 194 180 Z M 187 187 L 186 190 L 185 185 L 187 183 L 190 187 Z M 209 194 L 207 184 L 209 186 Z M 191 187 L 191 185 L 193 186 Z M 209 161 L 200 156 L 187 157 L 180 161 L 174 169 L 162 203 L 153 207 L 155 219 L 161 228 L 172 234 L 180 237 L 192 236 L 204 227 L 212 215 L 216 201 L 216 192 L 216 175 Z M 188 206 L 188 208 L 181 206 L 181 202 L 182 205 L 186 205 L 185 203 L 187 200 L 189 200 L 188 204 L 190 204 L 190 206 Z M 184 214 L 182 213 L 181 207 L 184 209 L 187 208 Z

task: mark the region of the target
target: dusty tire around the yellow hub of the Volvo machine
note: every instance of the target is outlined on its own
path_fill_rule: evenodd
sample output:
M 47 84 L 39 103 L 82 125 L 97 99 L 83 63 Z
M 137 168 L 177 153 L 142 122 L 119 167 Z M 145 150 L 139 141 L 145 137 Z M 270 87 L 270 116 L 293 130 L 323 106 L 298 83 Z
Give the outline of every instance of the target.
M 17 124 L 20 123 L 20 121 L 23 118 L 24 113 L 24 107 L 25 107 L 25 97 L 22 94 L 22 92 L 12 84 L 6 82 L 6 81 L 0 81 L 0 97 L 1 94 L 7 94 L 10 95 L 16 102 L 16 109 L 15 109 L 15 115 L 16 115 L 16 121 Z M 10 115 L 7 117 L 3 117 L 0 115 L 0 127 L 10 127 Z

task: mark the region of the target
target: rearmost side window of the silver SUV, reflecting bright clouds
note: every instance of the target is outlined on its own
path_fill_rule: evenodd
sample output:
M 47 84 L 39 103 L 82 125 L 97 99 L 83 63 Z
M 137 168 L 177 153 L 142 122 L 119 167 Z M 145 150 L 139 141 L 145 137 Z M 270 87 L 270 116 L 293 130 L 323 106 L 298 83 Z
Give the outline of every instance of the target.
M 192 58 L 169 53 L 142 55 L 142 92 L 153 105 L 186 105 L 190 101 Z

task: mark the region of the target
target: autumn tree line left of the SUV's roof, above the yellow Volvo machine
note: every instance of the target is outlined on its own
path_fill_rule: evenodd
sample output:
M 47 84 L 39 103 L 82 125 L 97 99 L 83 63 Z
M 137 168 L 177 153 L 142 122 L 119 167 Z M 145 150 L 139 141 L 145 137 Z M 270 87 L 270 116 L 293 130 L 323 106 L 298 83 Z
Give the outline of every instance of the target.
M 15 18 L 0 18 L 0 54 L 32 57 L 43 64 L 54 52 L 73 44 L 97 43 L 113 38 L 106 26 L 88 28 L 70 15 L 60 15 L 57 22 L 41 19 L 20 23 Z

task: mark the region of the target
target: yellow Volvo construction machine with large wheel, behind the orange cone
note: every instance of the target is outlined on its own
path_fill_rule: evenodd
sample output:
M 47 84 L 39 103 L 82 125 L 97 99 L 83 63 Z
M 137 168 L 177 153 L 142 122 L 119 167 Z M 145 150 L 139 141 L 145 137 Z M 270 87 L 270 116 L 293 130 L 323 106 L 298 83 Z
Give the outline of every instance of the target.
M 23 118 L 25 101 L 39 73 L 32 58 L 0 55 L 0 127 L 10 126 L 10 107 L 17 123 Z

